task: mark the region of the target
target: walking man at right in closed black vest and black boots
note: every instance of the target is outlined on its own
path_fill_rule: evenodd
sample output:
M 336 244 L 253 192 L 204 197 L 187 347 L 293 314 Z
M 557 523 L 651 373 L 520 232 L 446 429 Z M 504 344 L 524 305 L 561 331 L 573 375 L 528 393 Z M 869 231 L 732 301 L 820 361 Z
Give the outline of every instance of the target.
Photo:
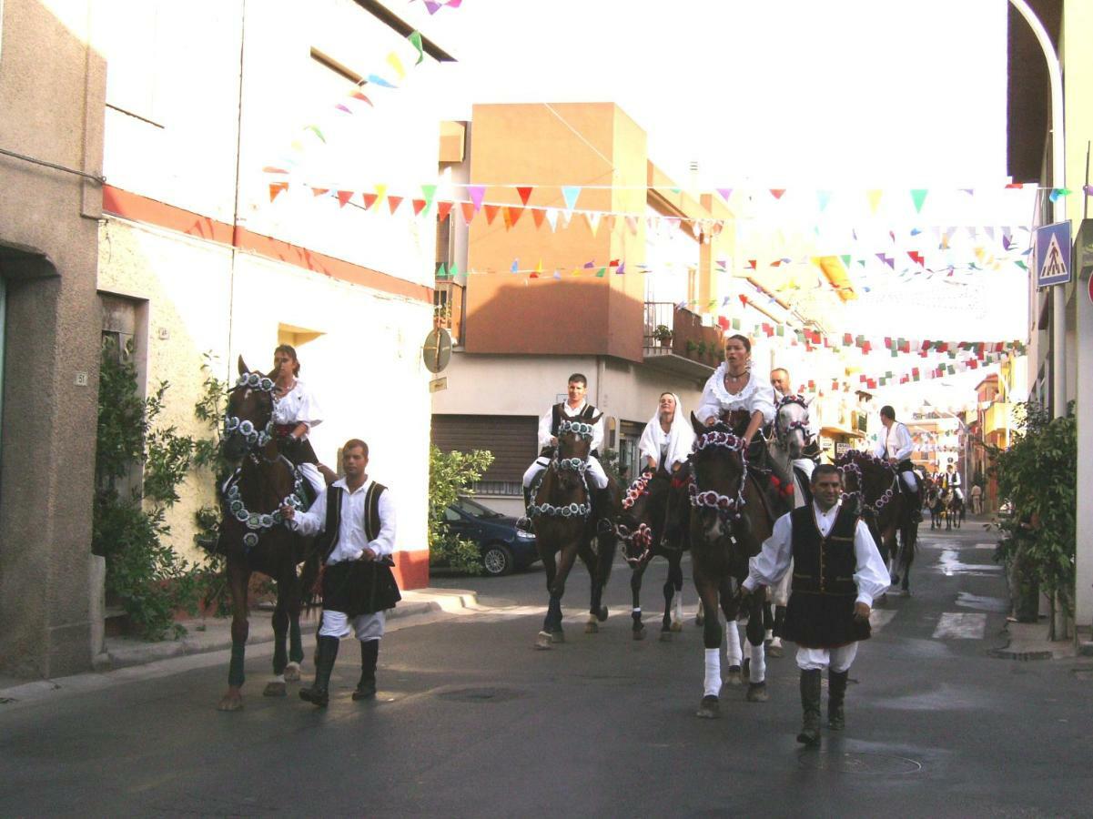
M 858 642 L 870 635 L 873 598 L 891 582 L 869 528 L 849 510 L 839 494 L 842 476 L 830 464 L 812 472 L 808 506 L 783 515 L 763 550 L 751 559 L 744 594 L 774 585 L 794 565 L 792 588 L 786 615 L 785 637 L 797 643 L 801 669 L 801 705 L 804 723 L 797 741 L 820 742 L 821 675 L 827 668 L 827 725 L 843 730 L 843 702 Z

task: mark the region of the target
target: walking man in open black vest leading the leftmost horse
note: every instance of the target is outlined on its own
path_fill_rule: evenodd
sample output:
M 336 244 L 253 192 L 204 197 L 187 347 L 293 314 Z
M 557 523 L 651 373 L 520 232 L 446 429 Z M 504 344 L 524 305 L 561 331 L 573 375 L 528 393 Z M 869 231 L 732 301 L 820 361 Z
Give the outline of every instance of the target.
M 386 609 L 401 599 L 391 572 L 395 507 L 391 493 L 368 478 L 368 445 L 359 438 L 342 447 L 345 477 L 320 494 L 310 510 L 282 506 L 290 525 L 303 535 L 319 534 L 324 559 L 322 618 L 315 658 L 315 685 L 299 698 L 319 707 L 330 701 L 330 674 L 350 623 L 361 641 L 361 680 L 354 700 L 376 695 L 376 660 L 384 636 Z

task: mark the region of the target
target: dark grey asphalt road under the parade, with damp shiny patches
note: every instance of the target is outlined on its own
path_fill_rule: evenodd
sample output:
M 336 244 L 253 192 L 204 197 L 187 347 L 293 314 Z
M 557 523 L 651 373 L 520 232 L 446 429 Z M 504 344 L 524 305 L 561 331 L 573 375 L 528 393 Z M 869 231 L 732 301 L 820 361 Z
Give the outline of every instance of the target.
M 645 641 L 631 639 L 621 564 L 611 617 L 584 633 L 578 568 L 566 642 L 551 651 L 532 647 L 545 604 L 537 566 L 434 578 L 477 589 L 486 608 L 389 633 L 373 703 L 350 700 L 359 657 L 346 641 L 327 711 L 294 690 L 263 699 L 269 659 L 255 653 L 235 714 L 214 710 L 226 657 L 0 705 L 0 815 L 1093 815 L 1093 662 L 989 656 L 1008 609 L 990 536 L 927 526 L 921 540 L 914 596 L 879 609 L 850 672 L 847 729 L 819 750 L 795 741 L 791 648 L 767 662 L 769 702 L 726 688 L 720 719 L 694 716 L 701 633 L 689 617 L 657 640 L 662 562 L 646 577 Z

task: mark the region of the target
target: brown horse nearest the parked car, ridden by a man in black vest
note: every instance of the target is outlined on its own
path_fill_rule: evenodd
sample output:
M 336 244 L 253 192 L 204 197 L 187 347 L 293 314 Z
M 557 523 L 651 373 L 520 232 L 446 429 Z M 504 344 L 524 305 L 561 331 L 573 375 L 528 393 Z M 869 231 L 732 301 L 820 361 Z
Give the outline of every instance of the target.
M 595 634 L 599 623 L 608 619 L 602 605 L 603 589 L 611 575 L 616 548 L 614 529 L 598 533 L 591 519 L 592 503 L 586 483 L 592 429 L 600 416 L 585 421 L 563 420 L 557 431 L 557 447 L 531 488 L 532 503 L 528 515 L 534 520 L 536 549 L 546 570 L 546 592 L 550 600 L 536 647 L 550 648 L 564 643 L 562 630 L 562 596 L 577 557 L 588 568 L 591 577 L 591 601 L 585 633 Z M 609 478 L 608 489 L 618 508 L 619 487 Z M 612 512 L 614 510 L 611 510 Z M 592 547 L 592 539 L 596 547 Z M 555 554 L 560 558 L 555 562 Z

